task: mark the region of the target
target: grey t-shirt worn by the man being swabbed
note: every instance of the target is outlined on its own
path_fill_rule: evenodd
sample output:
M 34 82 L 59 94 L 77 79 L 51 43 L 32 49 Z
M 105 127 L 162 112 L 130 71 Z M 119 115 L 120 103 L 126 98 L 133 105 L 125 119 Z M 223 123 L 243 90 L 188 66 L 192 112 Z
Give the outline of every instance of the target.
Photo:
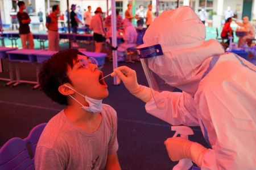
M 111 106 L 102 105 L 102 122 L 93 133 L 76 127 L 62 110 L 40 136 L 35 169 L 104 169 L 107 156 L 117 150 L 117 113 Z

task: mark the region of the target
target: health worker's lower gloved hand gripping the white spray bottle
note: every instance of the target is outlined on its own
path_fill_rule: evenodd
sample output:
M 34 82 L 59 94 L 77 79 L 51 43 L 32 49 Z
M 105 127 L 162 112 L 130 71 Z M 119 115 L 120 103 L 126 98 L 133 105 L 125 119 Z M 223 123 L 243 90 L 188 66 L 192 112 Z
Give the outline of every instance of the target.
M 204 154 L 207 151 L 207 148 L 201 144 L 180 137 L 168 138 L 164 144 L 172 161 L 188 158 L 201 167 Z

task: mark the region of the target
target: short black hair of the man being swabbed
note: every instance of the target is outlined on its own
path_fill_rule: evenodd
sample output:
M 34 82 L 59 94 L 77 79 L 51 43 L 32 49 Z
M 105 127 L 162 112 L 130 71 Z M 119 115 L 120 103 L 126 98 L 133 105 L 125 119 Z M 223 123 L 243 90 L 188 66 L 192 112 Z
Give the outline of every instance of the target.
M 64 82 L 72 84 L 71 80 L 66 78 L 67 69 L 68 65 L 73 68 L 73 61 L 77 60 L 77 55 L 85 56 L 77 49 L 59 51 L 44 62 L 39 73 L 39 84 L 43 92 L 61 105 L 68 105 L 68 101 L 67 96 L 61 94 L 58 89 Z

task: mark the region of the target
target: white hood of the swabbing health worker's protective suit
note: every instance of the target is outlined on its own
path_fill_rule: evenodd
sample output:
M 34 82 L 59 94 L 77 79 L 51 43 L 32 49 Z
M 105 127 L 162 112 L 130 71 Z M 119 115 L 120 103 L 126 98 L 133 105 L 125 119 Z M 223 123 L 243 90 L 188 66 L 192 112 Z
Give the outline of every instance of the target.
M 216 40 L 204 39 L 204 24 L 191 7 L 182 6 L 156 18 L 137 49 L 160 44 L 163 55 L 148 58 L 148 68 L 166 84 L 194 93 L 209 65 L 206 60 L 224 53 Z

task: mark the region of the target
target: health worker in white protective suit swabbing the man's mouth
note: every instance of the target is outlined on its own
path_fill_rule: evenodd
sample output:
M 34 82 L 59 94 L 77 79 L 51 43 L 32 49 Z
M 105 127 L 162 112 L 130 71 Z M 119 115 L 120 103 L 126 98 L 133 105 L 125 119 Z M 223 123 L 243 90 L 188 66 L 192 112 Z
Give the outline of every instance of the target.
M 171 125 L 201 127 L 211 148 L 168 138 L 172 161 L 187 157 L 201 169 L 255 169 L 256 67 L 204 39 L 205 26 L 191 7 L 164 11 L 137 48 L 150 88 L 138 85 L 128 67 L 114 72 L 146 102 L 147 113 Z

